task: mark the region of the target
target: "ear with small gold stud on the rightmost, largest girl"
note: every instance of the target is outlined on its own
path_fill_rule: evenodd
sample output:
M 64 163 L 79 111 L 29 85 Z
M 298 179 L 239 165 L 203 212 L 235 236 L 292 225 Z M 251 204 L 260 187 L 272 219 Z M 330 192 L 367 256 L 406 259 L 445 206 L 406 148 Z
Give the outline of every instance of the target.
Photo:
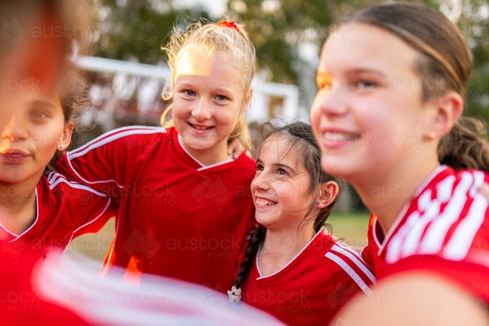
M 433 105 L 436 113 L 428 131 L 433 132 L 436 137 L 443 137 L 450 132 L 462 114 L 464 99 L 456 91 L 450 90 L 443 98 L 433 102 Z

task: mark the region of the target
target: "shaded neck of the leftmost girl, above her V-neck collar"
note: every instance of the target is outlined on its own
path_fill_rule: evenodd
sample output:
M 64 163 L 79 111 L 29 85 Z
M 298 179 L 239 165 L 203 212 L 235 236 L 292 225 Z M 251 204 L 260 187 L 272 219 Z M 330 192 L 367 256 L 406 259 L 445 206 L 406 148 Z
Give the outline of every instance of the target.
M 36 186 L 41 175 L 18 183 L 0 181 L 0 223 L 16 235 L 27 230 L 36 219 Z

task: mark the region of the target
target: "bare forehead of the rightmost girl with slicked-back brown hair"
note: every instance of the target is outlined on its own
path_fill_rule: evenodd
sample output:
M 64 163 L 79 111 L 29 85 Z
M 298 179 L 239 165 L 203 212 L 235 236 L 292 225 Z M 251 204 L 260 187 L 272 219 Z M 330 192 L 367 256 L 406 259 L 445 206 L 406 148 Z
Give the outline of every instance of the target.
M 389 76 L 412 72 L 418 52 L 391 32 L 370 24 L 339 26 L 324 43 L 318 71 L 375 70 Z

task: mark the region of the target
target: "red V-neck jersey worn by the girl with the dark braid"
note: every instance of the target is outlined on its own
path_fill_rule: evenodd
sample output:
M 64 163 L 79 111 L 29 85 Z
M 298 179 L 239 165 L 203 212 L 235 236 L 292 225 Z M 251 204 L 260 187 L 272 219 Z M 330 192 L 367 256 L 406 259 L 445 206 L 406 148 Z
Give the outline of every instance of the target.
M 358 253 L 321 228 L 292 261 L 271 275 L 262 276 L 256 259 L 241 289 L 244 302 L 288 325 L 328 325 L 356 293 L 371 294 L 372 283 L 375 277 Z

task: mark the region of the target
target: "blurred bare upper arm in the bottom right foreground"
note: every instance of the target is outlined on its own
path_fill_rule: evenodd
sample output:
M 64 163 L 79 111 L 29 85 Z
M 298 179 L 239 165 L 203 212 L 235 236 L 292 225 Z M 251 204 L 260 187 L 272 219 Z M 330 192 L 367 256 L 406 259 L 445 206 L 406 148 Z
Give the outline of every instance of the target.
M 362 298 L 361 304 L 356 299 L 330 325 L 489 325 L 489 315 L 482 302 L 434 274 L 397 274 L 382 280 L 372 296 Z

